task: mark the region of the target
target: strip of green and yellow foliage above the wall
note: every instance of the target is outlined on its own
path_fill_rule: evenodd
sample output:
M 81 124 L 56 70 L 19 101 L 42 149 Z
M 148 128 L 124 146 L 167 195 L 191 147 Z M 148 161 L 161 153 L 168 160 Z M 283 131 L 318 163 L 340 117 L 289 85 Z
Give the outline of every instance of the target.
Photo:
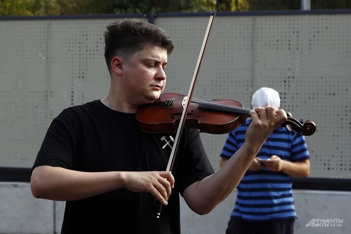
M 350 0 L 311 0 L 311 9 L 351 8 Z M 300 0 L 0 0 L 0 15 L 73 15 L 300 9 Z

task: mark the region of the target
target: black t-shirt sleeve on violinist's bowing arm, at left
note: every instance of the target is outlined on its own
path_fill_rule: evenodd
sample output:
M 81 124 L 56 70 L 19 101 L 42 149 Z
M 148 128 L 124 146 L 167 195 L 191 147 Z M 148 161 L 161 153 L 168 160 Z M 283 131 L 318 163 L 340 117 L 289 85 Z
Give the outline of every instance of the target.
M 80 134 L 79 126 L 77 114 L 72 108 L 65 109 L 54 118 L 34 161 L 31 174 L 35 167 L 42 165 L 72 169 Z

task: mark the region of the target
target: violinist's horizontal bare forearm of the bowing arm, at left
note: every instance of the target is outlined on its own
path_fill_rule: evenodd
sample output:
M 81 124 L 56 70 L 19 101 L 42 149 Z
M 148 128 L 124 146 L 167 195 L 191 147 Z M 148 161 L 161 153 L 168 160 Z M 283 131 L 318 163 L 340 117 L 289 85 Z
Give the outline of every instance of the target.
M 31 178 L 35 198 L 71 201 L 123 187 L 121 172 L 79 172 L 60 167 L 40 166 Z

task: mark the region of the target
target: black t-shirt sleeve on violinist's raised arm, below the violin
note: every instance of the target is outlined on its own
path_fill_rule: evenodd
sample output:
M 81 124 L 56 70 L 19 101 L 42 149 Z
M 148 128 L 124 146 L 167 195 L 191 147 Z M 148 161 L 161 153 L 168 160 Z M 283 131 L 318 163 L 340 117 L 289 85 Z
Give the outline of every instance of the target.
M 214 169 L 207 158 L 203 143 L 197 129 L 187 129 L 185 147 L 179 157 L 179 193 L 192 183 L 202 180 L 214 173 Z

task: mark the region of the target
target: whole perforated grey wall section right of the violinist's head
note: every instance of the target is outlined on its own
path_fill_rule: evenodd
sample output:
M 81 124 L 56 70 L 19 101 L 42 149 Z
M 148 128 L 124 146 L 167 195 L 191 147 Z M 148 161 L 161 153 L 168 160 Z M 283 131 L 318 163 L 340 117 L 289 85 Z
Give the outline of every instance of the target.
M 351 178 L 349 20 L 350 15 L 216 16 L 194 96 L 237 99 L 250 108 L 259 87 L 276 89 L 282 108 L 317 125 L 306 137 L 310 176 Z M 176 42 L 166 91 L 187 93 L 208 18 L 155 23 Z M 218 169 L 226 135 L 201 136 Z

